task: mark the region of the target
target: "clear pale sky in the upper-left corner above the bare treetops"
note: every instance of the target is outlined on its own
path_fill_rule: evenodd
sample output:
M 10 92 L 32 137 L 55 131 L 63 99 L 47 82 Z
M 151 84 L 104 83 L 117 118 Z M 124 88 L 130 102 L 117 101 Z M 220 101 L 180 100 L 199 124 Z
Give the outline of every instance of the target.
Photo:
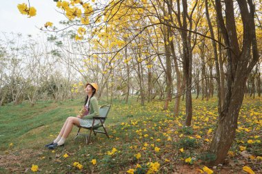
M 59 21 L 66 19 L 63 14 L 56 10 L 56 3 L 53 0 L 30 0 L 30 6 L 37 9 L 37 15 L 28 18 L 19 12 L 19 3 L 28 4 L 28 0 L 2 0 L 0 6 L 0 32 L 14 32 L 23 35 L 37 35 L 41 31 L 38 28 L 50 21 L 59 27 Z M 38 27 L 38 28 L 37 28 Z

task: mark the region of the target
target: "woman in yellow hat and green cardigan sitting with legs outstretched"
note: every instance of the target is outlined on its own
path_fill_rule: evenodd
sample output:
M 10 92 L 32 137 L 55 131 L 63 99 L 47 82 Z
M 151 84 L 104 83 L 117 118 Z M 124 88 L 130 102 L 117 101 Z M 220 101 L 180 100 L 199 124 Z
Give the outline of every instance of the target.
M 86 96 L 82 114 L 77 117 L 68 117 L 66 119 L 66 122 L 63 124 L 63 127 L 57 138 L 50 144 L 45 145 L 48 147 L 48 149 L 54 149 L 57 146 L 63 146 L 66 138 L 72 131 L 73 125 L 77 125 L 77 127 L 92 127 L 92 118 L 94 116 L 99 116 L 99 105 L 97 98 L 94 96 L 97 90 L 97 83 L 87 83 L 85 85 L 85 92 L 88 94 L 88 96 Z M 94 125 L 96 124 L 99 124 L 99 120 L 95 120 Z

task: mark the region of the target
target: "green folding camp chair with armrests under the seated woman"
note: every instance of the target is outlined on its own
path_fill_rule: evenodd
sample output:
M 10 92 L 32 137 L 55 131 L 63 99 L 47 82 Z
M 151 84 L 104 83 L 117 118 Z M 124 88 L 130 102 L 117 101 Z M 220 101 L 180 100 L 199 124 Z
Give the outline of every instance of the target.
M 109 138 L 108 132 L 105 129 L 104 122 L 105 122 L 105 120 L 106 120 L 106 118 L 108 116 L 108 112 L 110 110 L 110 107 L 111 107 L 110 105 L 103 105 L 102 107 L 100 107 L 100 109 L 99 109 L 99 117 L 93 117 L 92 127 L 79 127 L 79 130 L 78 130 L 77 135 L 76 135 L 75 138 L 77 138 L 78 135 L 80 135 L 80 129 L 81 128 L 90 130 L 89 134 L 83 134 L 83 135 L 85 135 L 85 142 L 86 142 L 86 144 L 90 143 L 90 136 L 92 134 L 92 131 L 94 132 L 94 135 L 97 135 L 97 133 L 105 133 L 105 135 Z M 94 125 L 94 121 L 95 120 L 100 120 L 100 123 L 97 124 L 97 125 Z M 99 127 L 103 127 L 103 131 L 98 131 L 97 129 L 99 129 Z

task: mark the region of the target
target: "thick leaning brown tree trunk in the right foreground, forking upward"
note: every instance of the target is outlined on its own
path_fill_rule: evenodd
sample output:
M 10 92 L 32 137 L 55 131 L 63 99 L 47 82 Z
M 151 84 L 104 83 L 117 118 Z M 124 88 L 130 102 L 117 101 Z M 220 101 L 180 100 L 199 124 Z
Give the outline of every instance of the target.
M 227 90 L 218 127 L 214 133 L 210 152 L 216 155 L 216 160 L 210 165 L 223 164 L 225 157 L 235 137 L 239 110 L 243 102 L 245 83 L 252 68 L 259 61 L 254 25 L 254 4 L 252 1 L 237 0 L 243 23 L 243 43 L 239 48 L 236 34 L 233 1 L 225 1 L 225 23 L 220 0 L 215 0 L 216 16 L 219 28 L 223 34 L 227 48 Z M 252 49 L 251 49 L 252 48 Z M 252 50 L 252 56 L 251 56 Z

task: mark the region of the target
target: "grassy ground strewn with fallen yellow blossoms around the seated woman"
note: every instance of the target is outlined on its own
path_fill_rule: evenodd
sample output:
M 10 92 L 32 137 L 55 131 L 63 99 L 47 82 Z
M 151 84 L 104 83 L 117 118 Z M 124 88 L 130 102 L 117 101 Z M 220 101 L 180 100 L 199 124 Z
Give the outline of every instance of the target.
M 163 102 L 141 107 L 116 100 L 106 121 L 110 139 L 99 134 L 85 145 L 83 137 L 74 140 L 74 127 L 65 148 L 44 148 L 81 105 L 81 100 L 70 100 L 0 107 L 0 173 L 32 173 L 32 164 L 38 166 L 37 173 L 201 173 L 214 158 L 206 150 L 216 127 L 215 98 L 193 100 L 192 127 L 183 127 L 184 106 L 173 117 L 173 103 L 163 111 Z M 226 163 L 210 169 L 245 173 L 243 166 L 248 166 L 262 173 L 261 126 L 262 98 L 245 98 Z

